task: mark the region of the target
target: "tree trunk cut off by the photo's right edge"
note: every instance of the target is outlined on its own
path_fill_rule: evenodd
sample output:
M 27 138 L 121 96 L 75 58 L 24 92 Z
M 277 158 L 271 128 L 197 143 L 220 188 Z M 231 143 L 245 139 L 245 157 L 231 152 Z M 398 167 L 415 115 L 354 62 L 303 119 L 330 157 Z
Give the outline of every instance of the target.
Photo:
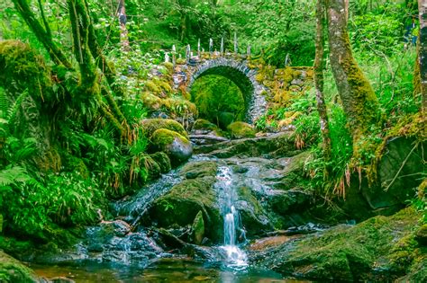
M 420 18 L 420 44 L 418 47 L 418 64 L 420 72 L 420 91 L 422 112 L 427 110 L 427 0 L 418 0 Z

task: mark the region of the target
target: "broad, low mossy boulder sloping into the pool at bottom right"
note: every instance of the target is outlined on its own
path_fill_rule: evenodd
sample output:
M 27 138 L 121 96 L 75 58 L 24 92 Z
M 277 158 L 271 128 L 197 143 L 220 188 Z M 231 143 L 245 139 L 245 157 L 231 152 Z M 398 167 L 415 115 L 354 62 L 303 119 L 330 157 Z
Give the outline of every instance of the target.
M 393 281 L 425 262 L 425 247 L 414 241 L 419 217 L 413 208 L 406 208 L 392 217 L 336 226 L 251 256 L 265 267 L 300 279 Z

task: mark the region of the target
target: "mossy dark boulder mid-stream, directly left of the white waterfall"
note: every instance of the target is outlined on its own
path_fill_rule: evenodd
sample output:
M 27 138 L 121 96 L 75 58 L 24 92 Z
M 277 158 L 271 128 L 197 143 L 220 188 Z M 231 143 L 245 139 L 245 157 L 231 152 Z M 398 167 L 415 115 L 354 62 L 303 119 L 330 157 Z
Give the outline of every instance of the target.
M 223 218 L 213 190 L 216 169 L 217 165 L 213 162 L 186 164 L 180 170 L 184 180 L 153 202 L 149 213 L 151 221 L 164 228 L 191 227 L 201 211 L 204 236 L 219 243 L 223 234 Z

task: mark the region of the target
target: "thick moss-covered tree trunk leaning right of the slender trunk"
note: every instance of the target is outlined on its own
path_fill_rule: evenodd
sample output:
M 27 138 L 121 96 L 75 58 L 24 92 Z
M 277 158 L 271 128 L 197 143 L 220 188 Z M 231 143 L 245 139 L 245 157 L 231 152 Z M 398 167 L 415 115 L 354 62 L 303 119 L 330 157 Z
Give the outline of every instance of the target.
M 348 0 L 325 0 L 332 73 L 353 142 L 378 121 L 377 96 L 354 59 L 347 31 Z

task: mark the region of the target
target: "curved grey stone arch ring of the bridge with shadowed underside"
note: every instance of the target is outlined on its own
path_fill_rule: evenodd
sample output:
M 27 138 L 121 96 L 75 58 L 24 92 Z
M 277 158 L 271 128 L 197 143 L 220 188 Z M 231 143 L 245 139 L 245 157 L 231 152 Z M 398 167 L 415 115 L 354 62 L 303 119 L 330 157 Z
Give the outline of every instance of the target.
M 230 58 L 215 58 L 195 66 L 187 84 L 188 92 L 195 81 L 204 75 L 222 75 L 236 84 L 246 103 L 246 120 L 252 123 L 262 115 L 267 108 L 263 95 L 266 87 L 255 79 L 257 71 L 246 65 L 246 61 L 236 61 Z

